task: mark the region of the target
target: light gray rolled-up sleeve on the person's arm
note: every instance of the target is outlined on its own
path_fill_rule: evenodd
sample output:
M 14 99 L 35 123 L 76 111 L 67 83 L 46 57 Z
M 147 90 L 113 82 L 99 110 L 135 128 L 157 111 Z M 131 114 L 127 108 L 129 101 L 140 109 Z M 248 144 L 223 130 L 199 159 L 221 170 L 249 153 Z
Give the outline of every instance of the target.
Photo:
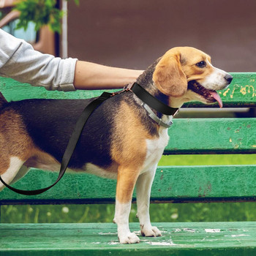
M 75 91 L 76 61 L 39 53 L 26 41 L 0 29 L 0 76 L 47 90 Z

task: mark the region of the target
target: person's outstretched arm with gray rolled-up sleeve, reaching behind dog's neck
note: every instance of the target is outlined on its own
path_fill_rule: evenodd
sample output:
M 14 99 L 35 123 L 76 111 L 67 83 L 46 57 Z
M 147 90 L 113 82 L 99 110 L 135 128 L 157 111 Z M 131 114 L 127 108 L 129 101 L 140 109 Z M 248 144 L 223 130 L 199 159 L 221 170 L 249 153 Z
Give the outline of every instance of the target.
M 0 42 L 0 76 L 48 90 L 121 88 L 142 72 L 39 53 L 29 43 L 1 29 Z

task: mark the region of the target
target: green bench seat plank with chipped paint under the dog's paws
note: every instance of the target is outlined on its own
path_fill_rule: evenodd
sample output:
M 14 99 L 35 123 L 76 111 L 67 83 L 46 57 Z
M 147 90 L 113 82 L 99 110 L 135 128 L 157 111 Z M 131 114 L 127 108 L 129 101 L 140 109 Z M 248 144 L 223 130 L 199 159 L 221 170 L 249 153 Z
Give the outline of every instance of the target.
M 255 255 L 256 222 L 154 223 L 162 237 L 140 236 L 140 244 L 118 244 L 116 225 L 1 224 L 0 255 Z M 26 236 L 24 236 L 26 233 Z

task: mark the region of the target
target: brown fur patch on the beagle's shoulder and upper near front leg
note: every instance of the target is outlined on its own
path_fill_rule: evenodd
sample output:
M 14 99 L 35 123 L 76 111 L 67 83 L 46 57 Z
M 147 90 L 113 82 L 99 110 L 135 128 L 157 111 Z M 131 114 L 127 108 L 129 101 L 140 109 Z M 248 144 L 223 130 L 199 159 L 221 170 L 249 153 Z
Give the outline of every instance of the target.
M 146 159 L 146 139 L 151 138 L 140 119 L 126 102 L 115 117 L 111 157 L 118 164 L 116 198 L 120 203 L 132 199 L 135 183 Z

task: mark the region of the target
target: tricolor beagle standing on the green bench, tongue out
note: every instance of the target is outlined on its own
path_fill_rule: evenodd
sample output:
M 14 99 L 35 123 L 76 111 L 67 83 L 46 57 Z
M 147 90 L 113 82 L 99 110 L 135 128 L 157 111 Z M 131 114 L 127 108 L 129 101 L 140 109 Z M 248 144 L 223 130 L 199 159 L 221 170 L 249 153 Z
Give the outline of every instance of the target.
M 136 81 L 172 108 L 197 100 L 222 101 L 232 76 L 211 64 L 211 57 L 189 47 L 172 48 Z M 0 95 L 0 174 L 7 184 L 30 167 L 59 171 L 75 123 L 93 99 L 26 99 L 7 102 Z M 167 123 L 173 116 L 154 114 Z M 121 244 L 138 243 L 129 230 L 132 192 L 137 188 L 142 236 L 161 236 L 149 217 L 151 185 L 157 163 L 167 146 L 167 128 L 159 125 L 132 93 L 110 97 L 90 116 L 68 170 L 117 178 L 114 222 Z M 4 184 L 0 182 L 0 190 Z M 86 189 L 86 187 L 85 187 Z

